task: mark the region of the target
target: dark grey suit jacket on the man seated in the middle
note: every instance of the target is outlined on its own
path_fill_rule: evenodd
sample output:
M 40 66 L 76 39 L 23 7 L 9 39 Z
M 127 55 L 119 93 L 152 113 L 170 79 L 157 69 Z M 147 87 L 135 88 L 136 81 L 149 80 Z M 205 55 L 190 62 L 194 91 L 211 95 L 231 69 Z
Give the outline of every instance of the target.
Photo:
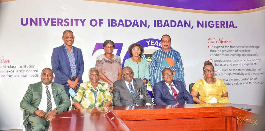
M 144 82 L 140 79 L 133 78 L 133 86 L 134 96 L 132 97 L 125 84 L 124 78 L 115 81 L 113 83 L 113 105 L 131 106 L 133 102 L 137 105 L 145 105 L 146 103 L 150 103 L 152 105 L 152 98 L 147 92 Z M 143 99 L 140 99 L 140 94 L 143 95 Z

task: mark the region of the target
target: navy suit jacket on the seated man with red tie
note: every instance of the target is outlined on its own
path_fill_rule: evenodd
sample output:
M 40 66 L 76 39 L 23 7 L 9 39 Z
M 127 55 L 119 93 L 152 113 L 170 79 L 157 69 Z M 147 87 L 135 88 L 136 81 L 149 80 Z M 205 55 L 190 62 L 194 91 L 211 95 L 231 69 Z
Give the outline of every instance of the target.
M 182 101 L 182 98 L 184 98 L 187 104 L 193 104 L 192 95 L 185 89 L 183 82 L 173 80 L 173 84 L 179 91 L 177 100 L 171 95 L 165 81 L 162 80 L 154 84 L 154 103 L 156 103 L 156 105 L 176 105 L 178 101 L 179 104 L 185 104 L 185 102 Z

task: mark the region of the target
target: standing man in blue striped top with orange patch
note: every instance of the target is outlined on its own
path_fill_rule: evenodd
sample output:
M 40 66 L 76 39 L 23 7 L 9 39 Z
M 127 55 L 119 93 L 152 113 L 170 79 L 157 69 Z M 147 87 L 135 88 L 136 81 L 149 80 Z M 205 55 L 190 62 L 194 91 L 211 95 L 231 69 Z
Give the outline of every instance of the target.
M 162 49 L 155 51 L 149 65 L 150 82 L 152 89 L 154 84 L 163 80 L 161 77 L 164 68 L 170 68 L 173 71 L 173 80 L 182 81 L 184 86 L 184 69 L 180 54 L 174 49 L 170 49 L 171 38 L 169 35 L 163 35 L 161 38 Z M 153 92 L 154 93 L 154 92 Z

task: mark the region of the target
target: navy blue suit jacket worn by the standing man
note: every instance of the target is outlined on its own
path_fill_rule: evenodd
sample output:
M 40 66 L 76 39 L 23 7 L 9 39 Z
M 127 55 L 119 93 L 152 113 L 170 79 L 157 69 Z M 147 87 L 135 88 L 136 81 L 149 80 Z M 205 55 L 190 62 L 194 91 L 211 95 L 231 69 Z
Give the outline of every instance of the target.
M 76 74 L 75 76 L 79 78 L 79 84 L 83 83 L 82 74 L 84 72 L 84 59 L 81 49 L 73 47 L 75 55 L 75 65 L 76 65 Z M 53 49 L 53 54 L 51 56 L 51 66 L 55 74 L 54 82 L 58 84 L 67 84 L 67 80 L 71 80 L 71 66 L 65 46 L 61 45 Z

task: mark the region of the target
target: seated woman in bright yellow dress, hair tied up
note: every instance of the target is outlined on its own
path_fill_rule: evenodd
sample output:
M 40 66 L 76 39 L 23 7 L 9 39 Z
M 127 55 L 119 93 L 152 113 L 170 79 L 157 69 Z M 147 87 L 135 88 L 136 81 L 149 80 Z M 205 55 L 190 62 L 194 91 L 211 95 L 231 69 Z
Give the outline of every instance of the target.
M 230 103 L 228 92 L 221 79 L 214 78 L 214 66 L 205 61 L 203 66 L 204 79 L 198 80 L 192 87 L 190 94 L 193 101 L 198 103 Z M 200 94 L 199 99 L 196 97 Z

